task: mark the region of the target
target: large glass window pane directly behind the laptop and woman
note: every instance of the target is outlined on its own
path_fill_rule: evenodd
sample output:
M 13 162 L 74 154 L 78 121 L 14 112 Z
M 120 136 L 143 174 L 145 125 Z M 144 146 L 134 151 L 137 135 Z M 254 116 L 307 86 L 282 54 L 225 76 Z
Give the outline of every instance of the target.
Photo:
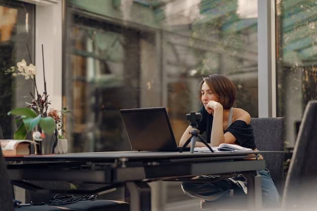
M 179 141 L 211 73 L 227 75 L 235 106 L 258 116 L 257 0 L 66 3 L 63 92 L 74 151 L 129 150 L 121 108 L 165 106 Z

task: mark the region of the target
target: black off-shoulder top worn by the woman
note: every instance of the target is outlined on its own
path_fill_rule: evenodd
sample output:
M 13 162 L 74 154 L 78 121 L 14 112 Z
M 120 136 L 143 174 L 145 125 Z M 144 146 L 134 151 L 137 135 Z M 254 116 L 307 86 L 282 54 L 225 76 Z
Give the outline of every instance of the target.
M 198 112 L 202 114 L 202 121 L 197 121 L 197 129 L 201 134 L 206 132 L 206 141 L 207 143 L 210 143 L 214 116 L 206 111 L 205 106 L 202 106 Z M 230 121 L 231 119 L 229 122 Z M 224 131 L 224 133 L 226 132 L 230 132 L 236 138 L 236 141 L 234 142 L 235 144 L 251 149 L 256 148 L 251 124 L 247 124 L 242 120 L 236 120 L 230 124 L 227 130 Z

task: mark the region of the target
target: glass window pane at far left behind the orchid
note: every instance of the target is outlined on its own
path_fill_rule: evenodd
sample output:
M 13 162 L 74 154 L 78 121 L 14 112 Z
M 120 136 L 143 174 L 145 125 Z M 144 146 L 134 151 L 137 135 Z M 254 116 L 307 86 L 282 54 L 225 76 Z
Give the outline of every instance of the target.
M 22 59 L 30 63 L 28 49 L 31 57 L 34 55 L 33 19 L 34 6 L 19 1 L 0 1 L 0 125 L 6 139 L 12 139 L 16 127 L 11 125 L 14 117 L 7 113 L 25 105 L 25 96 L 29 96 L 32 84 L 23 77 L 5 75 L 5 70 Z

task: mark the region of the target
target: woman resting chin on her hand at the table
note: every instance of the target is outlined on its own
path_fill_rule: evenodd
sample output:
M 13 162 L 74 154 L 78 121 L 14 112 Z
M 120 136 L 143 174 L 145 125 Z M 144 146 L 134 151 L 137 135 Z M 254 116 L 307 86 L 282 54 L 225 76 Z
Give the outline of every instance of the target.
M 241 109 L 233 108 L 235 100 L 235 86 L 226 76 L 212 74 L 204 77 L 200 83 L 200 101 L 203 106 L 198 111 L 202 114 L 202 121 L 197 122 L 200 134 L 206 132 L 207 142 L 217 147 L 221 143 L 237 144 L 257 150 L 253 129 L 250 125 L 250 114 Z M 190 138 L 192 126 L 189 125 L 180 139 L 183 146 Z M 190 146 L 190 143 L 188 144 Z M 204 143 L 196 142 L 196 147 L 204 147 Z M 263 159 L 260 156 L 260 159 Z M 263 207 L 278 207 L 279 193 L 267 169 L 258 171 L 262 179 Z M 204 176 L 217 177 L 217 176 Z M 214 183 L 182 183 L 185 194 L 206 201 L 230 198 L 235 191 L 246 190 L 247 181 L 243 176 L 221 180 Z

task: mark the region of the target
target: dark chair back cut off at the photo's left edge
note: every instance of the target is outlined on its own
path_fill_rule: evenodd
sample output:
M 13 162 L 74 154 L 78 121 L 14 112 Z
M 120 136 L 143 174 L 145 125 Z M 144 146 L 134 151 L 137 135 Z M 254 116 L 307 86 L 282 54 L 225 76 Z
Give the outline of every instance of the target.
M 3 134 L 0 126 L 0 139 L 3 139 Z M 9 180 L 7 165 L 5 158 L 0 149 L 0 210 L 11 211 L 13 207 L 13 192 Z

